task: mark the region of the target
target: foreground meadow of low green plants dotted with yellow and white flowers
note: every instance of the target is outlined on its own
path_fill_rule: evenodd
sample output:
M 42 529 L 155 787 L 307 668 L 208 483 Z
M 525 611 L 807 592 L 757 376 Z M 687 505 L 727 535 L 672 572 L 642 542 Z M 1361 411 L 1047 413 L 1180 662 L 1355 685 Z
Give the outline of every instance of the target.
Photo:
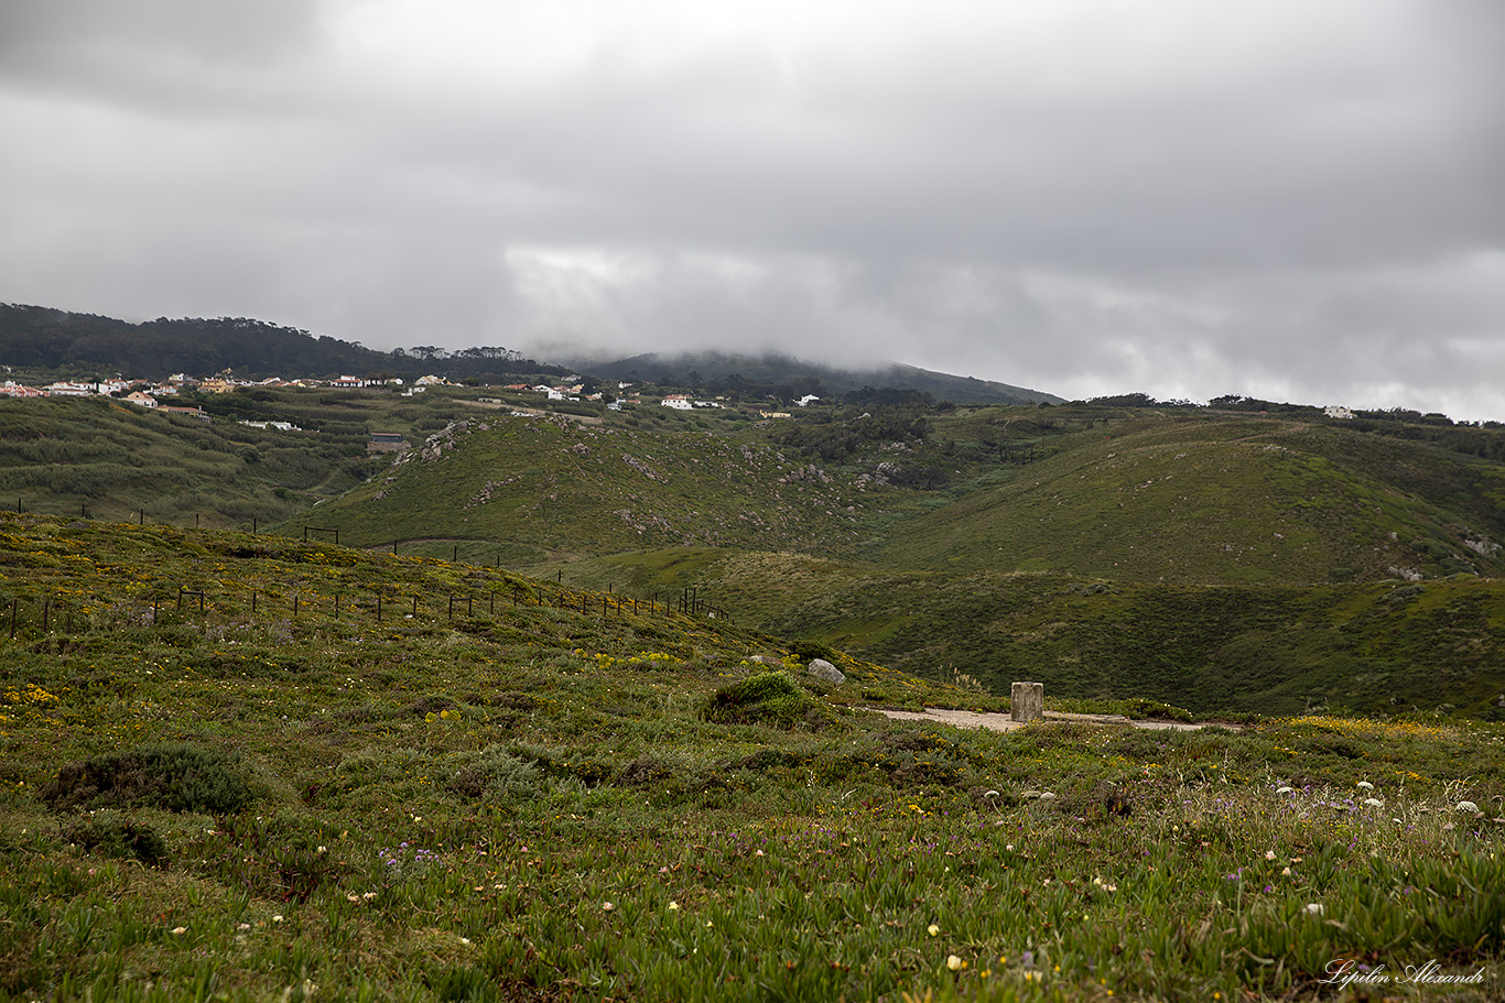
M 894 722 L 862 708 L 998 701 L 236 532 L 12 514 L 0 576 L 0 998 L 1505 988 L 1496 725 Z

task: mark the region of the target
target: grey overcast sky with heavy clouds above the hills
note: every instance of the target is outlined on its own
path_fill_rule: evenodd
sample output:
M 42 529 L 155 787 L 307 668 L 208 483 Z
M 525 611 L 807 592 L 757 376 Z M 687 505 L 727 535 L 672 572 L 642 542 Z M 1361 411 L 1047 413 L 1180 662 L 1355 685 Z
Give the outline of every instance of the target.
M 1505 420 L 1497 0 L 5 0 L 0 135 L 5 302 Z

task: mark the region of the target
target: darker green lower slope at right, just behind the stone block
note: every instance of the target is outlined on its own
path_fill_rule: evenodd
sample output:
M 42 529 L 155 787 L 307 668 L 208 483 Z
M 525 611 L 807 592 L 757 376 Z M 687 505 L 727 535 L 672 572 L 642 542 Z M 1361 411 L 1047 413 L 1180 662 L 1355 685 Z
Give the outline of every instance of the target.
M 1505 582 L 1216 586 L 1061 576 L 891 576 L 834 586 L 768 621 L 995 692 L 1147 696 L 1199 714 L 1505 710 Z

